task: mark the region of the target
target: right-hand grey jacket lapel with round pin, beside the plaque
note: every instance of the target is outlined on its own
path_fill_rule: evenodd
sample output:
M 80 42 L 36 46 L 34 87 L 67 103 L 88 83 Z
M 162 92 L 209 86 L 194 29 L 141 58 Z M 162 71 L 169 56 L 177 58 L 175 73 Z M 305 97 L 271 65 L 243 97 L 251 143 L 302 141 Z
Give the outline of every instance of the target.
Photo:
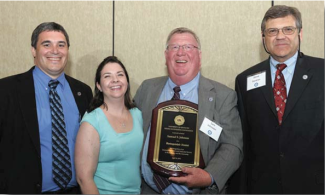
M 199 82 L 198 131 L 200 147 L 204 162 L 207 162 L 208 160 L 209 136 L 205 135 L 202 131 L 199 130 L 199 128 L 205 117 L 210 120 L 214 120 L 213 108 L 216 101 L 216 93 L 213 89 L 213 85 L 201 75 Z

